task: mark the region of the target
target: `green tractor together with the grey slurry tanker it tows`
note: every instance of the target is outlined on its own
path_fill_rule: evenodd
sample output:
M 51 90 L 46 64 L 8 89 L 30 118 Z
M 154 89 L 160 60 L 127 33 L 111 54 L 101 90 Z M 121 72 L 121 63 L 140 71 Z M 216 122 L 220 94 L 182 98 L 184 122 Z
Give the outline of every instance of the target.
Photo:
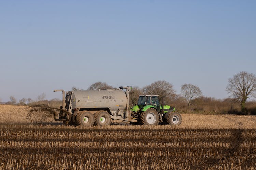
M 67 125 L 80 126 L 110 125 L 112 120 L 143 125 L 181 124 L 181 115 L 175 112 L 175 108 L 163 102 L 160 104 L 158 95 L 139 95 L 137 105 L 129 108 L 131 90 L 131 86 L 68 92 L 54 90 L 61 91 L 63 96 L 61 111 L 54 119 Z

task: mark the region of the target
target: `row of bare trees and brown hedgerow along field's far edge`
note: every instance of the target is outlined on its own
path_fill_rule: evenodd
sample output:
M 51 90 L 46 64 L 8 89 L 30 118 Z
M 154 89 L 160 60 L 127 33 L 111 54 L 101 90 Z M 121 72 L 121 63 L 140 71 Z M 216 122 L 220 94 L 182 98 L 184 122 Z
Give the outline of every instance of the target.
M 87 90 L 103 90 L 115 88 L 106 82 L 95 82 L 89 86 Z M 71 90 L 82 90 L 81 88 L 73 86 Z M 248 114 L 249 110 L 246 108 L 246 101 L 248 98 L 256 97 L 256 76 L 253 73 L 248 73 L 246 71 L 239 72 L 233 75 L 232 78 L 228 79 L 228 85 L 226 91 L 230 95 L 230 98 L 226 99 L 214 99 L 205 97 L 195 84 L 183 84 L 180 89 L 180 93 L 177 94 L 173 88 L 173 84 L 165 80 L 159 80 L 147 85 L 145 87 L 134 86 L 130 91 L 130 106 L 136 105 L 138 100 L 138 95 L 140 94 L 154 94 L 159 95 L 159 100 L 164 98 L 164 103 L 172 105 L 177 109 L 183 109 L 184 112 L 221 112 L 220 108 L 228 113 L 241 113 Z M 17 102 L 17 100 L 10 96 L 10 101 L 6 104 L 11 105 L 34 105 L 34 104 L 47 104 L 53 107 L 61 104 L 61 100 L 52 99 L 50 101 L 45 100 L 46 94 L 42 93 L 37 97 L 35 101 L 31 98 L 22 98 Z M 211 104 L 211 105 L 209 105 Z M 238 110 L 237 105 L 240 105 L 240 110 Z M 226 105 L 226 106 L 225 106 Z M 256 114 L 256 102 L 250 101 L 247 104 L 253 113 Z M 191 107 L 192 106 L 192 107 Z M 204 107 L 202 107 L 204 106 Z M 207 109 L 207 107 L 210 109 Z M 230 107 L 230 108 L 227 108 Z M 252 111 L 251 111 L 252 112 Z M 250 114 L 250 113 L 249 113 Z

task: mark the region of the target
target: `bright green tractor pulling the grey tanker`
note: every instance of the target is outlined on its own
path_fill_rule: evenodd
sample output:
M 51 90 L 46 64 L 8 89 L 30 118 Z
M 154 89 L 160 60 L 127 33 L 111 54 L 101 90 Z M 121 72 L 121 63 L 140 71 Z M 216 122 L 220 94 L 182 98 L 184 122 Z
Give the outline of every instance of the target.
M 137 123 L 143 125 L 181 124 L 181 115 L 175 112 L 175 108 L 164 105 L 163 102 L 161 105 L 158 95 L 139 95 L 138 104 L 133 106 L 131 111 Z

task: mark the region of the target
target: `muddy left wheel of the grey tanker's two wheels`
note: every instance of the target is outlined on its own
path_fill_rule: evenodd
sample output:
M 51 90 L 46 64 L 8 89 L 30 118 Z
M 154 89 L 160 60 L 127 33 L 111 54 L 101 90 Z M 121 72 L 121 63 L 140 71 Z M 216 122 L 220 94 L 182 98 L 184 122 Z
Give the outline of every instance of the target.
M 76 116 L 76 124 L 79 126 L 92 126 L 94 124 L 94 116 L 88 111 L 79 112 Z

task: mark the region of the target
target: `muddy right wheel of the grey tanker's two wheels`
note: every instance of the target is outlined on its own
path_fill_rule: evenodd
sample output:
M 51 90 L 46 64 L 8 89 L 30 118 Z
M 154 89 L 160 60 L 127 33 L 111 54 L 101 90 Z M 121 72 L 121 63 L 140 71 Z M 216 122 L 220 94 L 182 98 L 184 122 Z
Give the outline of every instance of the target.
M 111 123 L 110 114 L 106 111 L 99 111 L 94 114 L 95 122 L 97 126 L 108 126 Z

